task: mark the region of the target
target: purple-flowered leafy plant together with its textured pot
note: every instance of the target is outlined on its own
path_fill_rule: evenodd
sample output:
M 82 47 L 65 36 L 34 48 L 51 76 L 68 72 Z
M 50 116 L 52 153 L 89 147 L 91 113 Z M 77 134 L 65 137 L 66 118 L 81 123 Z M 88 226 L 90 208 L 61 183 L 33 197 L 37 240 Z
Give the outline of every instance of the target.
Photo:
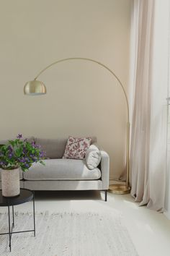
M 17 139 L 9 140 L 6 145 L 0 147 L 0 168 L 1 170 L 1 187 L 4 197 L 14 197 L 19 195 L 19 170 L 27 171 L 33 163 L 45 159 L 45 152 L 36 145 L 35 141 L 29 142 L 23 140 L 22 135 Z

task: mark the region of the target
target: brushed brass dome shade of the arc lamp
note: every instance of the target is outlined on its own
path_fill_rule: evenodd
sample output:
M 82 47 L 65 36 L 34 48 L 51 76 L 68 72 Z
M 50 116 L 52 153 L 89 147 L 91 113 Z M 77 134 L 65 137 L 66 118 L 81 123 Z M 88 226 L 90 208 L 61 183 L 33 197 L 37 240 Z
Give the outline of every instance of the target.
M 24 85 L 24 94 L 26 95 L 43 95 L 47 90 L 43 82 L 33 80 Z

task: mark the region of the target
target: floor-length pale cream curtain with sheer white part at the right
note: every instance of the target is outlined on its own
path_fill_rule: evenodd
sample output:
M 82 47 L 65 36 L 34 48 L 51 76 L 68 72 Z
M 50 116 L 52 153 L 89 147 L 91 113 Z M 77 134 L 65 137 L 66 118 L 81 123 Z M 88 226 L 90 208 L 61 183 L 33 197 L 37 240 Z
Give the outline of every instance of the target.
M 131 195 L 164 210 L 169 0 L 134 0 L 132 20 Z

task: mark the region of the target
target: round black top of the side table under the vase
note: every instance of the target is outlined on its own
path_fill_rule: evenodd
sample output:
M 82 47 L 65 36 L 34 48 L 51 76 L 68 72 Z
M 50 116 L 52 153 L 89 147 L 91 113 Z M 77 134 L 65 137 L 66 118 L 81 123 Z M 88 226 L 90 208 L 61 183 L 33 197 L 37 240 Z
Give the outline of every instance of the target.
M 20 194 L 16 197 L 3 197 L 0 190 L 0 206 L 20 205 L 29 202 L 33 198 L 33 192 L 30 189 L 20 189 Z

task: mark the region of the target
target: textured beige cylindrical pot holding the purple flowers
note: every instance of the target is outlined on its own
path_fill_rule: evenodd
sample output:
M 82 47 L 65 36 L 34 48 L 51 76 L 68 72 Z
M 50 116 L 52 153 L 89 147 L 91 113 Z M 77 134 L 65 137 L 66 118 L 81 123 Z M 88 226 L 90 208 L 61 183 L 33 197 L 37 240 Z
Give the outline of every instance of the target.
M 20 194 L 19 168 L 1 170 L 1 189 L 4 197 L 15 197 Z

